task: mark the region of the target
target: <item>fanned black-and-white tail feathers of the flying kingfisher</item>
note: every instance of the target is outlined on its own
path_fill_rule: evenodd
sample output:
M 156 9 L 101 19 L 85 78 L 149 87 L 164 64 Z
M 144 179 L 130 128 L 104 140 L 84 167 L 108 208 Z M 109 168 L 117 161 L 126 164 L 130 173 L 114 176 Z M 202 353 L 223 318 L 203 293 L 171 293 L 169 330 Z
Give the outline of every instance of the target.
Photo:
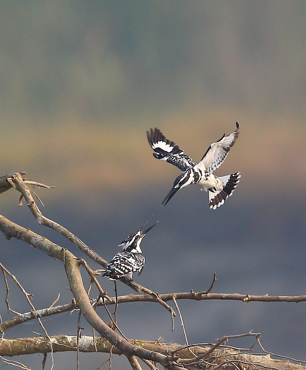
M 220 207 L 224 201 L 233 194 L 238 182 L 240 182 L 240 177 L 240 172 L 220 177 L 220 180 L 223 183 L 223 189 L 220 192 L 208 192 L 210 209 Z

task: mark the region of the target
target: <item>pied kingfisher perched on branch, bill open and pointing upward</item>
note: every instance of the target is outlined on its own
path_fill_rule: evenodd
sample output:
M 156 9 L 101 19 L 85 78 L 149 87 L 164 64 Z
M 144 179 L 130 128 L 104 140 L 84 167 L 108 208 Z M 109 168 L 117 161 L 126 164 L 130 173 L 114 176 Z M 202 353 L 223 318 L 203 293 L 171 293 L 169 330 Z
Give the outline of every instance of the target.
M 151 230 L 158 221 L 145 230 L 148 222 L 149 221 L 147 221 L 140 230 L 128 236 L 118 245 L 118 247 L 123 248 L 123 251 L 117 253 L 113 257 L 102 276 L 106 276 L 110 280 L 118 280 L 123 276 L 133 280 L 133 272 L 138 271 L 138 275 L 141 274 L 144 268 L 145 258 L 142 255 L 140 243 L 145 234 Z

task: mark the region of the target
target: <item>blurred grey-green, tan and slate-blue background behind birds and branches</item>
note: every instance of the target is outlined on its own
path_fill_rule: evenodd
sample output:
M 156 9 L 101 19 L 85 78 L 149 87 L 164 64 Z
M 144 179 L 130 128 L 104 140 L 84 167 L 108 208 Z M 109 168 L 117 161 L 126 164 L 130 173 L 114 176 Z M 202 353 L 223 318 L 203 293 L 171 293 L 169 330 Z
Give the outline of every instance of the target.
M 155 292 L 206 290 L 216 272 L 215 293 L 305 294 L 305 1 L 4 0 L 0 10 L 0 175 L 26 171 L 54 185 L 37 191 L 42 212 L 107 260 L 154 213 L 159 223 L 142 242 L 146 265 L 134 278 Z M 212 211 L 207 193 L 189 186 L 160 208 L 180 172 L 154 159 L 146 130 L 160 128 L 198 161 L 236 121 L 240 136 L 216 171 L 241 172 L 234 195 Z M 1 214 L 83 257 L 18 197 L 1 194 Z M 60 262 L 3 235 L 0 246 L 35 308 L 58 293 L 58 304 L 71 301 Z M 113 283 L 100 281 L 113 295 Z M 29 311 L 9 283 L 12 308 Z M 120 283 L 118 293 L 133 292 Z M 11 317 L 5 294 L 2 282 L 2 320 Z M 266 350 L 306 361 L 306 303 L 178 303 L 189 343 L 253 330 Z M 99 314 L 109 322 L 102 307 Z M 75 335 L 77 316 L 43 322 L 49 335 Z M 155 303 L 121 305 L 118 325 L 129 338 L 184 343 L 179 319 L 172 333 Z M 5 336 L 33 331 L 42 330 L 29 322 Z M 107 357 L 81 354 L 80 369 Z M 129 368 L 121 357 L 113 369 Z M 54 369 L 75 369 L 75 353 L 54 358 Z M 16 358 L 32 369 L 42 359 Z

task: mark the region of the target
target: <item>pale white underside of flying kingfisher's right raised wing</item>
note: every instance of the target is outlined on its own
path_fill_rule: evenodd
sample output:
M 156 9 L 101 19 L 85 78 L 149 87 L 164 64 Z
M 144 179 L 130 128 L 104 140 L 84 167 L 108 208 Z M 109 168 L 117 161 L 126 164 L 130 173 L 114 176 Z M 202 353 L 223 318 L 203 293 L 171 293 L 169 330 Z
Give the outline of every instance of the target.
M 236 122 L 236 127 L 235 131 L 231 134 L 227 136 L 224 134 L 220 140 L 213 142 L 196 166 L 207 169 L 209 172 L 213 172 L 219 168 L 239 135 L 238 122 Z

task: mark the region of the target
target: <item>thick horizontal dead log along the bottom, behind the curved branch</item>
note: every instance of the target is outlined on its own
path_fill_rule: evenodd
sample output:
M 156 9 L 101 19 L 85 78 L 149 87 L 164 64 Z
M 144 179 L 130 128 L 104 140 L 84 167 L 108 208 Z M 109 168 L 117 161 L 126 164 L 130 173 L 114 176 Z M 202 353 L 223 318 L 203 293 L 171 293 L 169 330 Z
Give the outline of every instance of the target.
M 76 336 L 51 336 L 51 341 L 53 344 L 54 352 L 64 352 L 64 351 L 76 351 L 77 349 L 77 338 Z M 135 346 L 141 347 L 152 352 L 158 352 L 164 356 L 168 356 L 172 351 L 179 349 L 180 344 L 173 343 L 161 343 L 160 341 L 147 342 L 142 340 L 132 340 L 131 342 Z M 80 352 L 96 352 L 94 347 L 93 338 L 90 336 L 83 336 L 79 339 L 79 350 Z M 111 344 L 107 342 L 106 339 L 96 338 L 96 348 L 98 352 L 110 353 Z M 197 356 L 207 352 L 209 347 L 193 347 L 193 351 Z M 1 356 L 18 356 L 20 354 L 32 354 L 32 353 L 49 353 L 51 351 L 51 345 L 44 338 L 34 337 L 34 338 L 21 338 L 21 339 L 3 339 L 0 347 Z M 120 350 L 113 347 L 113 354 L 122 354 Z M 190 359 L 193 355 L 188 351 L 188 349 L 181 350 L 176 353 L 180 358 Z M 252 354 L 241 354 L 239 351 L 231 349 L 216 349 L 213 351 L 212 356 L 214 361 L 210 363 L 210 366 L 206 368 L 216 367 L 226 360 L 237 360 L 246 361 L 249 363 L 257 363 L 267 367 L 274 367 L 282 370 L 305 370 L 305 366 L 292 364 L 289 361 L 271 359 L 267 354 L 265 355 L 252 355 Z M 211 367 L 212 364 L 215 366 Z M 204 365 L 204 364 L 203 364 Z M 254 368 L 254 367 L 252 367 Z

